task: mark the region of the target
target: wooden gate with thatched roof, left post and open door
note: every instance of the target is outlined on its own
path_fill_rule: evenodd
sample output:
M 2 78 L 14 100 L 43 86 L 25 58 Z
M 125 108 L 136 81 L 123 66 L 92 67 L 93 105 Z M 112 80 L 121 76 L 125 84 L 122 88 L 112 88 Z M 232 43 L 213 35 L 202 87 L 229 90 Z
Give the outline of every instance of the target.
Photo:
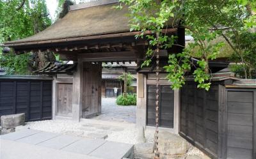
M 140 73 L 140 65 L 145 60 L 148 41 L 134 37 L 140 32 L 130 32 L 129 18 L 126 16 L 128 8 L 115 10 L 113 6 L 118 1 L 102 2 L 70 6 L 67 15 L 45 31 L 22 40 L 4 43 L 5 47 L 12 47 L 17 54 L 31 51 L 54 52 L 60 54 L 62 60 L 74 61 L 76 68 L 72 68 L 72 78 L 64 81 L 57 76 L 53 83 L 53 91 L 62 96 L 60 98 L 54 95 L 52 98 L 53 114 L 58 111 L 71 116 L 75 121 L 79 121 L 82 117 L 100 114 L 102 63 L 135 61 L 138 64 L 139 74 L 147 76 L 150 72 L 154 73 L 156 67 L 154 62 L 146 72 Z M 184 45 L 184 27 L 180 27 L 179 22 L 173 22 L 173 25 L 175 27 L 170 26 L 164 29 L 163 33 L 177 36 L 175 42 L 177 45 L 173 45 L 168 51 L 162 50 L 161 61 L 168 61 L 168 52 L 178 53 L 183 49 L 180 45 Z M 153 33 L 147 31 L 145 34 Z M 70 73 L 71 68 L 65 68 L 65 66 L 60 68 L 50 64 L 38 73 L 49 74 L 53 70 L 56 73 Z M 161 73 L 164 73 L 163 69 Z M 139 85 L 140 83 L 138 87 L 141 87 Z M 61 107 L 54 107 L 58 104 Z

